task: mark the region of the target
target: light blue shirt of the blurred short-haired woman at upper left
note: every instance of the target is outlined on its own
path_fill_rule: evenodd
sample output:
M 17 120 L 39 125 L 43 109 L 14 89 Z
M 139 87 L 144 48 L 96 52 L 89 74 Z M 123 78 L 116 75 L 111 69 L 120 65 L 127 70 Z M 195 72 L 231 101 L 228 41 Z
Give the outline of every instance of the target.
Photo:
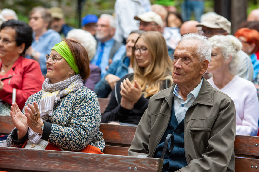
M 60 34 L 55 30 L 48 29 L 42 34 L 42 36 L 39 37 L 39 40 L 37 41 L 35 40 L 35 33 L 33 33 L 33 42 L 31 46 L 33 49 L 35 49 L 35 51 L 40 52 L 39 63 L 41 66 L 42 75 L 47 74 L 46 54 L 50 54 L 53 46 L 59 42 L 61 42 Z M 32 57 L 29 55 L 25 57 L 32 59 Z

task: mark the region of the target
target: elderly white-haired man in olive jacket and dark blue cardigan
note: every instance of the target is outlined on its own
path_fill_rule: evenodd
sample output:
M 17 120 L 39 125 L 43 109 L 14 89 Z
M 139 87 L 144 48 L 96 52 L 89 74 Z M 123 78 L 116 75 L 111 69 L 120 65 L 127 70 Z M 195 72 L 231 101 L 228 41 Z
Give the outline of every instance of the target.
M 210 58 L 206 37 L 183 36 L 174 53 L 174 85 L 150 98 L 129 156 L 161 158 L 171 133 L 174 149 L 166 151 L 164 171 L 234 171 L 235 105 L 202 77 Z

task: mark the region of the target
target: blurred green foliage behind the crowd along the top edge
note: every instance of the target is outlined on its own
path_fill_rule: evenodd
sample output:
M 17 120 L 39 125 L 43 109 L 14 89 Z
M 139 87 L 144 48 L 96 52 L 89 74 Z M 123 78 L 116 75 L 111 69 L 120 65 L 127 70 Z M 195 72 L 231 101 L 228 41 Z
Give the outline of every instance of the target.
M 151 4 L 157 3 L 165 6 L 173 5 L 177 11 L 181 11 L 181 3 L 184 0 L 150 0 Z M 235 1 L 238 2 L 238 1 Z M 113 14 L 115 0 L 83 0 L 81 17 L 86 14 Z M 58 6 L 64 10 L 68 25 L 78 28 L 78 1 L 77 0 L 0 0 L 0 9 L 13 9 L 20 20 L 28 23 L 28 14 L 33 7 L 44 6 L 46 8 Z M 247 13 L 259 7 L 259 0 L 248 0 Z M 214 0 L 205 0 L 205 12 L 214 11 Z

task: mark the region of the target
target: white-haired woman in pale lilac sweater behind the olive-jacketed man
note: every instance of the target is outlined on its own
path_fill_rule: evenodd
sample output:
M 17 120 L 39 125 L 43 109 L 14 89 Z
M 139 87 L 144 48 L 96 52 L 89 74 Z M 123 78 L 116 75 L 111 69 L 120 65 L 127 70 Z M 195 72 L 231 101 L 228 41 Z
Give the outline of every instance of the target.
M 211 85 L 234 100 L 236 107 L 236 134 L 253 135 L 258 132 L 259 103 L 254 84 L 237 76 L 237 51 L 241 42 L 232 35 L 215 35 L 208 39 L 212 45 L 208 79 Z

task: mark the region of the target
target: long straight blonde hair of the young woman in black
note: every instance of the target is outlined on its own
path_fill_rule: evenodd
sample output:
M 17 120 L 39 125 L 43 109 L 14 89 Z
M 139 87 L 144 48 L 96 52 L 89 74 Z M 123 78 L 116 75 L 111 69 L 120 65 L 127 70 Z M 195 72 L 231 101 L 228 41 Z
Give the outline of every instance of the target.
M 135 53 L 132 51 L 131 65 L 134 66 L 132 83 L 134 83 L 134 80 L 137 80 L 141 86 L 144 97 L 149 97 L 161 91 L 161 85 L 164 80 L 169 80 L 169 86 L 173 84 L 173 61 L 168 56 L 167 45 L 160 32 L 145 32 L 142 33 L 138 39 L 139 38 L 143 39 L 148 53 L 151 54 L 152 60 L 148 67 L 140 67 L 138 62 L 136 62 Z

